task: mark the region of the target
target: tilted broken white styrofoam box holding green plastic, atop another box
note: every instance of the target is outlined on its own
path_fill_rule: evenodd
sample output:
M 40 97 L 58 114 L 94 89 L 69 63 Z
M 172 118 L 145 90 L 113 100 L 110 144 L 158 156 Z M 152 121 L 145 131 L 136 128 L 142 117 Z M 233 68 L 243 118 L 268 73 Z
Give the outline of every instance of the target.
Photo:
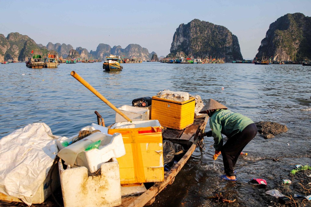
M 98 149 L 85 151 L 91 143 L 101 140 Z M 125 155 L 122 135 L 114 133 L 113 135 L 95 132 L 58 152 L 58 156 L 70 166 L 84 166 L 89 172 L 94 173 L 102 163 L 107 162 L 112 157 L 121 157 Z

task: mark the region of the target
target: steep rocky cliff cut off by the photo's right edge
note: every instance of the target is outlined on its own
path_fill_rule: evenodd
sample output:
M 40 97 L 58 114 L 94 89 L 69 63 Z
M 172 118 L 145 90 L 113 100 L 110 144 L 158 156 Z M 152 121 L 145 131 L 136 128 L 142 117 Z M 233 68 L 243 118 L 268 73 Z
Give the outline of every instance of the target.
M 301 13 L 286 14 L 273 22 L 262 39 L 256 57 L 277 61 L 311 59 L 311 17 Z

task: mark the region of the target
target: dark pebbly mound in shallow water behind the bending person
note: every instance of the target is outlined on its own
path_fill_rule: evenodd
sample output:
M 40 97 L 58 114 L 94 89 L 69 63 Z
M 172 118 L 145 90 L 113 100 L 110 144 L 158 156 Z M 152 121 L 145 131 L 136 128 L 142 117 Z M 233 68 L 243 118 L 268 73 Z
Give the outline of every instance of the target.
M 276 134 L 280 134 L 283 132 L 287 132 L 287 127 L 282 124 L 278 124 L 275 122 L 270 122 L 270 121 L 260 121 L 255 123 L 258 132 L 263 134 L 265 138 L 272 138 Z

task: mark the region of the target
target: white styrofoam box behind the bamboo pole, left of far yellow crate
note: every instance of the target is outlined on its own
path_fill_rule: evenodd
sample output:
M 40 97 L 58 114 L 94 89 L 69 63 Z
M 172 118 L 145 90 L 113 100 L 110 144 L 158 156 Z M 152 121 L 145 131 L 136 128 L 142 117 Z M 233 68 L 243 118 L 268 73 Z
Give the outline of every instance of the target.
M 118 108 L 123 114 L 125 114 L 132 121 L 149 120 L 150 111 L 147 107 L 135 107 L 124 105 Z M 116 113 L 116 122 L 127 121 L 121 115 Z

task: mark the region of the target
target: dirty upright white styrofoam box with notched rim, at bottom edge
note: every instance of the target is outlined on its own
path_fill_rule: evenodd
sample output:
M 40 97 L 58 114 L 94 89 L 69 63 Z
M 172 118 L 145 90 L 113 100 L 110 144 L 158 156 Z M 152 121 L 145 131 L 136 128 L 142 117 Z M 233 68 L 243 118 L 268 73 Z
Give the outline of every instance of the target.
M 58 162 L 65 207 L 111 207 L 121 205 L 119 164 L 115 158 L 100 166 L 101 173 L 89 176 L 85 167 L 63 168 Z

